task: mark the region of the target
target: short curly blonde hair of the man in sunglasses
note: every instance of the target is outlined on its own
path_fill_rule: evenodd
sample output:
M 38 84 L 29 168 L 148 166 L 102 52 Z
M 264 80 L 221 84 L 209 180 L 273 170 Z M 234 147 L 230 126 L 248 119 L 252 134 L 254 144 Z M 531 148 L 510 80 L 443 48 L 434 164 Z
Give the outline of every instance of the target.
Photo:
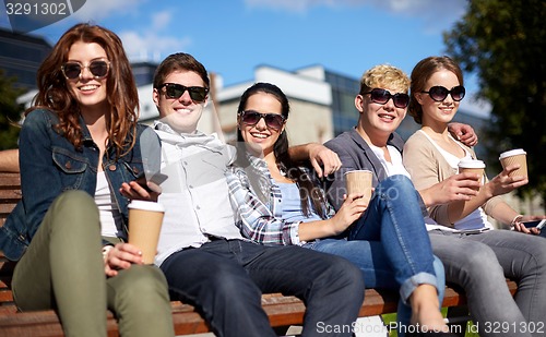
M 376 87 L 390 87 L 399 93 L 410 91 L 410 77 L 396 67 L 379 64 L 367 70 L 360 79 L 360 95 Z

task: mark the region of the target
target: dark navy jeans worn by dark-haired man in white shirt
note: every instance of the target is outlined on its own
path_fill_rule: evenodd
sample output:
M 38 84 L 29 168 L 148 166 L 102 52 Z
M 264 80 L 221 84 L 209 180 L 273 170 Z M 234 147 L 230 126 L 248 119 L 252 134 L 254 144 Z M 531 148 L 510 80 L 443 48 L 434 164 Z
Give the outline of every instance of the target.
M 329 336 L 351 336 L 364 298 L 356 266 L 295 245 L 216 240 L 174 253 L 161 268 L 171 297 L 194 304 L 217 336 L 276 336 L 261 306 L 266 292 L 305 302 L 304 336 L 324 336 L 327 327 L 344 327 Z

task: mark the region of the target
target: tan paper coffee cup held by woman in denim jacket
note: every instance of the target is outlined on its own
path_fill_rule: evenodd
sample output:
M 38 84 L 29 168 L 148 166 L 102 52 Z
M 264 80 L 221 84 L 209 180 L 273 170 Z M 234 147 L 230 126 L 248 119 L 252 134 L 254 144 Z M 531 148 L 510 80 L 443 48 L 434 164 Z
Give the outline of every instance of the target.
M 129 243 L 142 251 L 142 261 L 153 264 L 165 208 L 162 204 L 132 201 L 129 204 Z

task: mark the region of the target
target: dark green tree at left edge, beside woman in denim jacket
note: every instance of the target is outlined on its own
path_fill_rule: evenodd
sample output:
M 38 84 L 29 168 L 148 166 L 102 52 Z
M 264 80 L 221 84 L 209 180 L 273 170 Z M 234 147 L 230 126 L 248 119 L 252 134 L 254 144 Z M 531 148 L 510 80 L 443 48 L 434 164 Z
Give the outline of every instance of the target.
M 23 105 L 16 103 L 23 89 L 13 87 L 15 79 L 4 76 L 0 69 L 0 149 L 17 147 L 17 136 Z

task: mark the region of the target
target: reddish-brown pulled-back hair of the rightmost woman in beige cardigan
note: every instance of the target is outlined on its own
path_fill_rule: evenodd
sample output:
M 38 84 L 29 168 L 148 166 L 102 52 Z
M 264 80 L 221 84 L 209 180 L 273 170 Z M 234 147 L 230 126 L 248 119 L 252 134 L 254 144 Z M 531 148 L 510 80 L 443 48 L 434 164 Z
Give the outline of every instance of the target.
M 450 57 L 428 57 L 420 60 L 412 71 L 412 85 L 411 93 L 412 99 L 410 99 L 410 107 L 407 108 L 407 113 L 413 117 L 416 123 L 423 123 L 423 107 L 415 98 L 415 94 L 425 91 L 428 79 L 432 76 L 434 73 L 440 70 L 448 70 L 455 74 L 459 83 L 464 85 L 463 82 L 463 71 Z

